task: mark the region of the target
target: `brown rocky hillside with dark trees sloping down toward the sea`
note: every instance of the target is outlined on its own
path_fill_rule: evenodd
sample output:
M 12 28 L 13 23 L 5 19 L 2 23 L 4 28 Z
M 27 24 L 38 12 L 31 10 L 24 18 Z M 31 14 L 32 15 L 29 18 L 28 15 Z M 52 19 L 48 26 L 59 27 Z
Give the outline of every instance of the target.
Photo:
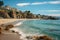
M 53 16 L 47 15 L 40 15 L 40 14 L 33 14 L 30 11 L 18 10 L 17 8 L 12 8 L 8 5 L 4 5 L 3 1 L 0 1 L 0 19 L 52 19 L 56 20 L 59 19 Z

